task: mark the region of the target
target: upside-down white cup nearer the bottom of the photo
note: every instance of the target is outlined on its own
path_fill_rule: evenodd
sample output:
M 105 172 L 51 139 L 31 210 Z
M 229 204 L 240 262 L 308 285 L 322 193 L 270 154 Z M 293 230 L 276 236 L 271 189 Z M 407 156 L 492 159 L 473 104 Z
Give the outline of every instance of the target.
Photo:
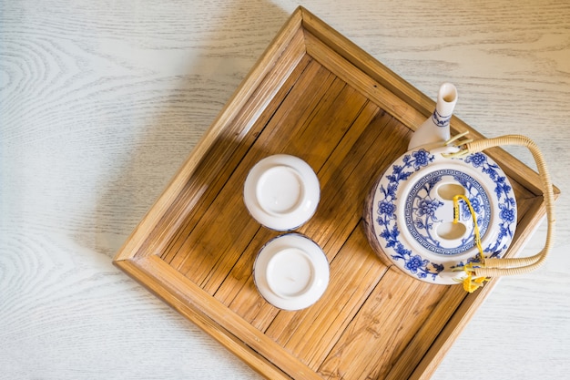
M 316 242 L 288 233 L 263 246 L 253 264 L 253 278 L 267 302 L 283 310 L 300 310 L 325 292 L 329 262 Z

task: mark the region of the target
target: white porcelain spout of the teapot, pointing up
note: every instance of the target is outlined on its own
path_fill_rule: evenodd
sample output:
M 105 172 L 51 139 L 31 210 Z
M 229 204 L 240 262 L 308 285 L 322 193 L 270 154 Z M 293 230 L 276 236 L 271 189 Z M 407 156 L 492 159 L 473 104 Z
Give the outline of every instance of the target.
M 455 103 L 457 103 L 457 88 L 452 83 L 443 83 L 437 94 L 433 115 L 413 133 L 408 150 L 447 141 L 450 138 L 449 122 Z

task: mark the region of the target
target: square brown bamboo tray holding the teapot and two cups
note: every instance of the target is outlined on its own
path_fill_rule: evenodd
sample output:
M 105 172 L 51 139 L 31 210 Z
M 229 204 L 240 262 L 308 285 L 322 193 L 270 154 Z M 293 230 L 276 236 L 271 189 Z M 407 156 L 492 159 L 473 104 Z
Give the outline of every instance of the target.
M 117 253 L 115 263 L 271 379 L 428 378 L 494 287 L 420 282 L 372 252 L 361 218 L 374 181 L 405 150 L 434 102 L 300 7 Z M 452 132 L 469 129 L 452 119 Z M 254 221 L 243 182 L 260 159 L 288 153 L 321 181 L 298 230 L 327 254 L 318 303 L 285 312 L 257 293 L 255 255 L 275 231 Z M 545 214 L 533 170 L 488 152 L 513 183 L 509 255 Z

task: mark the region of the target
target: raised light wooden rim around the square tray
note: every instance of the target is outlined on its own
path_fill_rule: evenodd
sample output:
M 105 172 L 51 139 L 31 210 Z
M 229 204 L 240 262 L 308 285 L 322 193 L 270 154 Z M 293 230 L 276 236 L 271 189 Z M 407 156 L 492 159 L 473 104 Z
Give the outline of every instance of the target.
M 232 353 L 238 355 L 260 374 L 269 378 L 314 378 L 321 379 L 308 366 L 303 365 L 292 354 L 287 352 L 279 344 L 268 338 L 265 334 L 244 321 L 238 314 L 231 312 L 226 306 L 216 300 L 209 293 L 202 290 L 198 285 L 190 282 L 181 273 L 170 267 L 158 254 L 164 248 L 159 242 L 152 241 L 148 237 L 148 231 L 155 231 L 160 223 L 167 223 L 165 230 L 176 230 L 172 225 L 174 221 L 165 221 L 165 214 L 170 205 L 175 200 L 183 188 L 185 179 L 188 178 L 198 167 L 200 159 L 207 154 L 211 144 L 219 137 L 229 120 L 236 118 L 242 111 L 243 105 L 252 97 L 254 91 L 262 80 L 278 85 L 281 77 L 269 78 L 270 69 L 280 60 L 283 52 L 290 47 L 291 41 L 299 35 L 299 32 L 306 30 L 309 33 L 303 36 L 304 49 L 296 51 L 290 57 L 290 65 L 294 65 L 296 60 L 305 54 L 318 56 L 323 66 L 332 65 L 334 62 L 327 61 L 327 49 L 331 49 L 336 54 L 341 55 L 356 70 L 364 75 L 362 81 L 357 80 L 357 87 L 369 98 L 379 102 L 387 112 L 394 118 L 398 118 L 402 124 L 414 129 L 423 118 L 429 116 L 433 110 L 434 102 L 426 97 L 416 88 L 409 85 L 401 77 L 398 77 L 388 67 L 384 67 L 380 62 L 362 51 L 344 36 L 327 26 L 315 15 L 310 14 L 305 8 L 300 6 L 290 16 L 289 21 L 281 28 L 280 33 L 275 37 L 266 52 L 260 57 L 258 63 L 251 69 L 249 75 L 229 100 L 225 108 L 219 113 L 219 117 L 212 123 L 211 127 L 200 140 L 193 152 L 188 156 L 184 165 L 178 170 L 177 175 L 170 182 L 166 190 L 161 194 L 147 215 L 140 221 L 135 231 L 127 239 L 123 247 L 117 252 L 114 263 L 117 267 L 127 272 L 138 282 L 145 285 L 151 292 L 158 295 L 166 303 L 175 308 L 178 313 L 187 317 L 194 324 L 212 335 L 221 344 L 226 346 Z M 324 46 L 324 47 L 323 47 Z M 347 67 L 334 67 L 336 70 L 346 70 Z M 350 67 L 348 67 L 350 69 Z M 346 73 L 347 75 L 349 73 Z M 366 77 L 371 81 L 367 82 Z M 382 86 L 374 86 L 377 82 Z M 383 101 L 384 97 L 397 96 L 402 98 L 417 109 L 422 118 L 406 118 L 398 109 L 391 109 L 389 104 Z M 461 119 L 453 117 L 453 131 L 470 130 L 473 136 L 481 136 L 478 132 L 470 128 Z M 534 183 L 538 183 L 537 173 L 527 168 L 524 164 L 513 159 L 502 149 L 493 149 L 490 155 L 498 162 L 509 162 L 504 165 L 504 171 L 514 180 L 520 181 L 524 186 L 534 193 L 533 198 L 537 198 L 542 191 Z M 556 189 L 556 193 L 559 190 Z M 179 211 L 184 212 L 184 211 Z M 545 214 L 544 205 L 536 203 L 533 209 L 533 218 L 528 218 L 524 230 L 530 225 L 539 221 Z M 169 223 L 169 224 L 168 224 Z M 161 233 L 161 231 L 155 231 Z M 519 239 L 518 244 L 511 252 L 518 251 L 530 236 Z M 168 240 L 168 239 L 165 239 Z M 463 302 L 449 315 L 447 324 L 438 334 L 436 340 L 427 349 L 422 360 L 419 362 L 411 378 L 429 378 L 433 374 L 435 367 L 441 362 L 443 355 L 453 344 L 456 336 L 463 330 L 463 327 L 473 316 L 479 304 L 493 290 L 496 282 L 490 282 L 478 293 L 464 296 Z M 454 292 L 458 296 L 463 292 L 460 287 L 455 287 Z M 429 328 L 426 326 L 425 328 Z M 275 354 L 279 353 L 279 354 Z M 395 365 L 405 365 L 406 355 L 411 356 L 412 349 L 405 350 L 401 360 Z M 271 361 L 268 358 L 271 358 Z M 397 369 L 397 368 L 396 368 Z M 392 371 L 392 376 L 399 372 Z

